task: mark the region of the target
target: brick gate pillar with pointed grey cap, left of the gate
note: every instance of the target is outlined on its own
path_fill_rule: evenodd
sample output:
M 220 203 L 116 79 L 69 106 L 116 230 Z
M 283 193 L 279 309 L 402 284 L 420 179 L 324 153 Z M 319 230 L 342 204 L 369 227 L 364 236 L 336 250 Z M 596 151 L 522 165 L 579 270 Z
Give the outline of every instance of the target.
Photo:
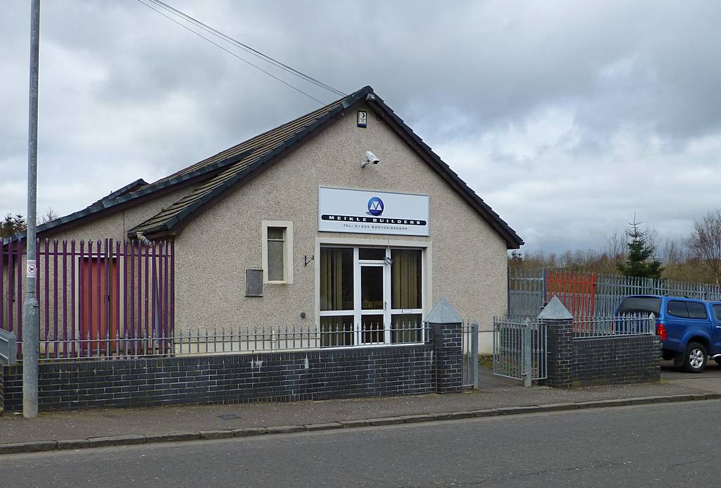
M 441 298 L 426 319 L 435 353 L 435 391 L 460 393 L 463 383 L 463 319 Z

